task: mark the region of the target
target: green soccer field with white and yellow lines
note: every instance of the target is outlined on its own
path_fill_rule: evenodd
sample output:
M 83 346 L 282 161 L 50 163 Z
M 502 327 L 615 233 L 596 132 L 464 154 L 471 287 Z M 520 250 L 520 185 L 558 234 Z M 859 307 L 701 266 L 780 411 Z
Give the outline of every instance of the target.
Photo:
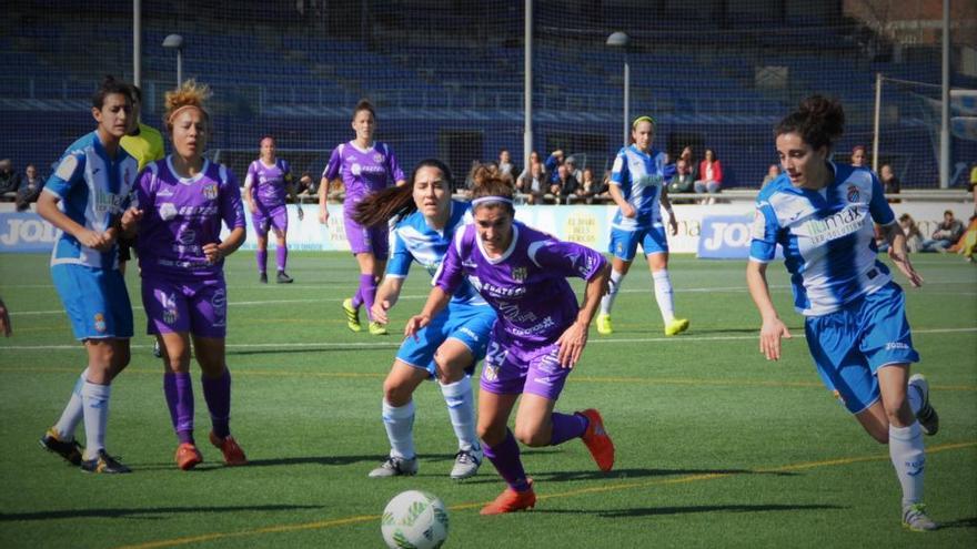
M 925 535 L 899 526 L 887 447 L 820 385 L 779 264 L 769 270 L 772 293 L 794 334 L 779 363 L 758 353 L 742 262 L 673 257 L 677 312 L 692 321 L 673 338 L 636 265 L 617 299 L 616 332 L 591 331 L 557 404 L 602 411 L 615 469 L 600 472 L 578 440 L 523 447 L 536 508 L 481 517 L 504 485 L 487 461 L 469 481 L 449 479 L 455 439 L 433 384 L 415 394 L 420 474 L 366 478 L 387 450 L 381 387 L 400 338 L 346 331 L 340 304 L 356 284 L 349 254 L 292 253 L 292 285 L 258 284 L 251 252 L 228 261 L 231 425 L 248 467 L 223 467 L 207 444 L 193 366 L 204 462 L 177 469 L 162 365 L 149 337 L 133 338 L 109 420 L 109 450 L 134 470 L 121 476 L 84 475 L 39 449 L 84 353 L 48 256 L 3 254 L 0 295 L 14 336 L 0 340 L 0 546 L 382 547 L 384 505 L 417 488 L 449 507 L 446 547 L 977 547 L 977 268 L 956 255 L 914 260 L 926 281 L 907 291 L 923 356 L 914 370 L 927 375 L 941 418 L 926 440 L 926 501 L 944 528 Z M 128 279 L 140 334 L 135 270 Z M 420 309 L 427 281 L 415 268 L 392 334 Z

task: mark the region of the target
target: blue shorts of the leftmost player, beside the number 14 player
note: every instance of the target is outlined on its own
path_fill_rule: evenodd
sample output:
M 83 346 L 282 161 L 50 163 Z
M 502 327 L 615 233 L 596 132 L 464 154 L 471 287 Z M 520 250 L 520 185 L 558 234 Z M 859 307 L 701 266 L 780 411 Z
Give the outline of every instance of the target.
M 132 337 L 132 304 L 118 270 L 62 263 L 51 267 L 51 278 L 75 339 Z

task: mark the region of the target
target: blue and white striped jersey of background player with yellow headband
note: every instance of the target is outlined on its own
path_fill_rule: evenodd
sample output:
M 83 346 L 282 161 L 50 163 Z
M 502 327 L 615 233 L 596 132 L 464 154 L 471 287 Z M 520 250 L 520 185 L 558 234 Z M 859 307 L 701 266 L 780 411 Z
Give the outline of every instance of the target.
M 662 189 L 675 171 L 665 164 L 666 160 L 665 153 L 654 149 L 648 154 L 634 144 L 621 149 L 614 159 L 611 184 L 621 187 L 621 194 L 634 206 L 636 215 L 625 217 L 618 210 L 612 222 L 614 228 L 635 231 L 662 224 Z

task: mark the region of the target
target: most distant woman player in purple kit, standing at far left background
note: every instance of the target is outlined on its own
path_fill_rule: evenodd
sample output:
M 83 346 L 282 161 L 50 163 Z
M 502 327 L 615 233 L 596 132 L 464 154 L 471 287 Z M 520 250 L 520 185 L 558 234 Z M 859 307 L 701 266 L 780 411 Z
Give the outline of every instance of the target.
M 278 247 L 275 248 L 275 266 L 279 284 L 291 284 L 292 277 L 285 274 L 289 260 L 289 245 L 285 235 L 289 232 L 289 211 L 285 206 L 285 193 L 295 197 L 292 185 L 292 171 L 289 163 L 275 157 L 275 142 L 271 135 L 261 139 L 261 157 L 248 166 L 244 177 L 244 200 L 251 211 L 251 224 L 258 236 L 258 278 L 268 284 L 268 230 L 274 231 Z M 302 206 L 299 206 L 299 221 L 302 221 Z

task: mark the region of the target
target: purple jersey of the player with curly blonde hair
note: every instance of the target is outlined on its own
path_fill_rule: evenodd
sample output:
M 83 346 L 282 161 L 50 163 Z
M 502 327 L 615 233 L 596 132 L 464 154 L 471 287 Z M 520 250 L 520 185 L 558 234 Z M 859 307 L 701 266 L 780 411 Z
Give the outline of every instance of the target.
M 222 164 L 208 160 L 190 179 L 174 173 L 172 156 L 145 166 L 135 187 L 143 211 L 139 222 L 139 268 L 143 276 L 216 278 L 223 260 L 210 264 L 203 245 L 221 242 L 221 222 L 244 226 L 244 206 L 238 179 Z

